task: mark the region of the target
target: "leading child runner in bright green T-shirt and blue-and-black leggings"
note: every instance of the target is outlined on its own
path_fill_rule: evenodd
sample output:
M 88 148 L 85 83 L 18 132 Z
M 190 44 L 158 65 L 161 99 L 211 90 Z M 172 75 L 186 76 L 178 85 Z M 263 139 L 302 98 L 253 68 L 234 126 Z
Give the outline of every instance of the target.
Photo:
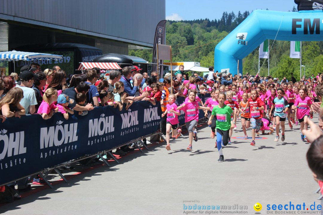
M 231 115 L 233 110 L 231 107 L 224 104 L 225 93 L 219 93 L 218 100 L 219 104 L 213 108 L 208 124 L 211 125 L 214 116 L 216 116 L 216 142 L 219 143 L 217 144 L 217 148 L 220 154 L 218 162 L 223 162 L 224 156 L 222 152 L 222 144 L 224 146 L 228 144 L 229 130 L 234 128 L 234 124 L 231 123 Z

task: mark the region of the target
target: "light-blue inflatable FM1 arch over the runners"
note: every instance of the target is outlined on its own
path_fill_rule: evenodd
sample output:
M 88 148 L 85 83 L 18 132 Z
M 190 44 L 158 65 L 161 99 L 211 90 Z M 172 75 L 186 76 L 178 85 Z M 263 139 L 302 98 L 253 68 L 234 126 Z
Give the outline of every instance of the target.
M 301 4 L 303 2 L 303 5 Z M 242 59 L 266 39 L 322 41 L 323 4 L 321 0 L 295 0 L 299 12 L 253 11 L 214 49 L 214 70 L 242 73 Z

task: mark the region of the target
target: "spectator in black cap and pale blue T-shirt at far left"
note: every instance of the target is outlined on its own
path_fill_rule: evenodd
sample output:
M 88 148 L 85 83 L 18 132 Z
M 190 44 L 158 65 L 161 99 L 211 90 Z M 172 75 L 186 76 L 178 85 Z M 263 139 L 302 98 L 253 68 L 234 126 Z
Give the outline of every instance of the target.
M 20 104 L 25 108 L 26 114 L 33 114 L 36 112 L 35 105 L 37 104 L 35 91 L 30 88 L 34 84 L 34 79 L 38 78 L 38 76 L 31 71 L 23 71 L 20 73 L 20 81 L 21 85 L 16 85 L 24 91 L 24 97 L 21 100 Z

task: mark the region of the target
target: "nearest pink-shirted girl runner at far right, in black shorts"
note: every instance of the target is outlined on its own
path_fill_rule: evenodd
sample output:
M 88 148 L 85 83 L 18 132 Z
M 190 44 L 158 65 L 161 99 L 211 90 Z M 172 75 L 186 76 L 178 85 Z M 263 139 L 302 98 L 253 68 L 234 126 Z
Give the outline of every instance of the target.
M 299 97 L 294 103 L 294 108 L 296 110 L 296 117 L 298 122 L 301 124 L 301 140 L 304 141 L 306 136 L 303 134 L 302 130 L 307 130 L 307 119 L 309 117 L 310 111 L 312 111 L 312 100 L 307 96 L 307 89 L 304 86 L 298 91 Z

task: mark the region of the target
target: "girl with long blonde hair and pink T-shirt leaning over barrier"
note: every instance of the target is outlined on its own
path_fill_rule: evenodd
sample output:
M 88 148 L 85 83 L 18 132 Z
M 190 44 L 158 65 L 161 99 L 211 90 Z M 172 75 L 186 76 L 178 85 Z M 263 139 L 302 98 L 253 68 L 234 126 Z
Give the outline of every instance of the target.
M 43 102 L 39 105 L 38 114 L 41 114 L 44 120 L 53 116 L 53 113 L 58 111 L 58 107 L 54 104 L 57 102 L 57 90 L 50 87 L 47 88 L 43 95 Z

